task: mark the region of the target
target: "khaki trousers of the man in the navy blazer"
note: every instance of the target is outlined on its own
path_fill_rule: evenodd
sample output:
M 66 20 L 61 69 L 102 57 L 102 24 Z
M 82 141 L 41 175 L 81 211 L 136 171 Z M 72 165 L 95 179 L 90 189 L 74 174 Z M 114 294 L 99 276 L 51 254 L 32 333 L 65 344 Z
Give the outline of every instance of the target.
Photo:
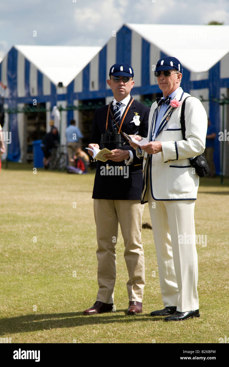
M 97 301 L 114 302 L 116 279 L 115 245 L 118 223 L 124 239 L 124 258 L 129 280 L 126 283 L 129 301 L 142 302 L 145 284 L 144 251 L 141 241 L 144 205 L 140 200 L 94 199 L 97 230 L 98 284 Z

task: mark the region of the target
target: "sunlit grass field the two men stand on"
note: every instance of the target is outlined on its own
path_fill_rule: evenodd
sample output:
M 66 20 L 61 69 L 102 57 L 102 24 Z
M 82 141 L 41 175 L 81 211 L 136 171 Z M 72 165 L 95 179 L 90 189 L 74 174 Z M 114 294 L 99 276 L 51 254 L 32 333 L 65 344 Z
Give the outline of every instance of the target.
M 0 174 L 0 337 L 12 343 L 218 343 L 229 337 L 229 179 L 204 178 L 195 208 L 200 318 L 165 323 L 153 233 L 144 229 L 143 313 L 126 315 L 128 274 L 117 242 L 116 312 L 83 316 L 97 294 L 94 173 L 10 163 Z M 76 208 L 74 208 L 76 203 Z M 148 206 L 143 221 L 150 221 Z M 155 277 L 152 276 L 155 271 Z

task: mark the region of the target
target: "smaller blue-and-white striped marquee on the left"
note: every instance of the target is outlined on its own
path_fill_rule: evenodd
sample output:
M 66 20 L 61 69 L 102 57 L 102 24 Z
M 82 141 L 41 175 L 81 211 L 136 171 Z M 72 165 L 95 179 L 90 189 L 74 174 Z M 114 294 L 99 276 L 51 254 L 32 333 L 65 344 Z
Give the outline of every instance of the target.
M 0 63 L 0 81 L 7 86 L 4 108 L 45 103 L 48 130 L 50 108 L 66 104 L 67 85 L 99 50 L 100 47 L 13 46 Z M 24 125 L 24 113 L 5 114 L 3 131 L 10 129 L 11 144 L 6 144 L 8 152 L 3 159 L 7 155 L 8 160 L 23 160 Z

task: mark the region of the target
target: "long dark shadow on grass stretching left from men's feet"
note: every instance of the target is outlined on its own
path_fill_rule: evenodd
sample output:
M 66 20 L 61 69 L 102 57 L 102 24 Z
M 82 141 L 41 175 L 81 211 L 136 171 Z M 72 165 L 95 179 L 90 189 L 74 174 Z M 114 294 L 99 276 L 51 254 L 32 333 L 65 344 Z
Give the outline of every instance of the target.
M 126 310 L 117 310 L 116 312 L 106 312 L 101 315 L 84 316 L 82 312 L 68 313 L 46 313 L 32 314 L 17 317 L 0 319 L 0 335 L 14 333 L 25 333 L 38 330 L 50 330 L 56 328 L 75 327 L 94 324 L 108 323 L 130 323 L 135 321 L 163 320 L 163 317 L 150 317 L 148 314 L 140 315 L 119 315 L 119 312 Z

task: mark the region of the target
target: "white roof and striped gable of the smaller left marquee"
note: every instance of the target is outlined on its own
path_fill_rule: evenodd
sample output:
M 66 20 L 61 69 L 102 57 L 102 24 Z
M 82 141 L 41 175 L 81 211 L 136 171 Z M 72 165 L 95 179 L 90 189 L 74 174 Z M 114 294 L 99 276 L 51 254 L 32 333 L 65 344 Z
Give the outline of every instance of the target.
M 49 95 L 50 83 L 57 86 L 62 82 L 67 86 L 99 50 L 100 47 L 92 46 L 15 45 L 0 63 L 0 79 L 8 86 L 9 74 L 14 68 L 17 71 L 17 97 L 25 97 L 28 92 L 30 95 Z

